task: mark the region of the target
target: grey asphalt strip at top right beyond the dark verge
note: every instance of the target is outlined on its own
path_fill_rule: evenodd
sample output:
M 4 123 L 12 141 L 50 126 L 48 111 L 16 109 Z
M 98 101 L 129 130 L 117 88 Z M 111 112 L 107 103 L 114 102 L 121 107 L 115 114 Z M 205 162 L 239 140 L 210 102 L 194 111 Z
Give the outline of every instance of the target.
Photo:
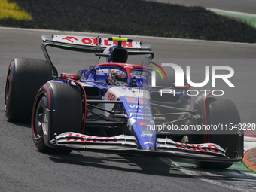
M 186 6 L 203 6 L 204 8 L 217 8 L 229 11 L 239 11 L 256 14 L 256 1 L 254 0 L 152 0 L 154 2 L 172 3 Z

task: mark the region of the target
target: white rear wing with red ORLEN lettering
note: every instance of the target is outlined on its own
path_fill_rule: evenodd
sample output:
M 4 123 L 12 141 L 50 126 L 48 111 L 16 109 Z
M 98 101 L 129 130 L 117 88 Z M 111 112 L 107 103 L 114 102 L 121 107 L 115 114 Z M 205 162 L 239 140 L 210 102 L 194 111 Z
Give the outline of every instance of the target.
M 41 48 L 44 52 L 45 58 L 52 66 L 53 75 L 58 75 L 58 72 L 53 66 L 50 56 L 47 53 L 47 46 L 85 53 L 102 53 L 106 47 L 118 45 L 118 41 L 114 41 L 114 39 L 110 40 L 109 38 L 100 38 L 99 36 L 43 35 L 42 40 L 43 44 L 41 45 Z M 128 51 L 128 55 L 150 54 L 151 58 L 154 57 L 154 53 L 151 52 L 150 44 L 142 44 L 140 41 L 130 40 L 131 39 L 127 38 L 127 41 L 121 42 L 121 46 Z

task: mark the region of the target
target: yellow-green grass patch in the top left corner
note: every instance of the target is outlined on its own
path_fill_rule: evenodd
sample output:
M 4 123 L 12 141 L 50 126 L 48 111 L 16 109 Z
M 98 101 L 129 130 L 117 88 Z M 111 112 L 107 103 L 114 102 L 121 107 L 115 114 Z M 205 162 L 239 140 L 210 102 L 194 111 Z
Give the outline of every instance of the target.
M 0 20 L 32 20 L 32 16 L 26 11 L 20 9 L 16 3 L 8 2 L 8 0 L 0 0 Z

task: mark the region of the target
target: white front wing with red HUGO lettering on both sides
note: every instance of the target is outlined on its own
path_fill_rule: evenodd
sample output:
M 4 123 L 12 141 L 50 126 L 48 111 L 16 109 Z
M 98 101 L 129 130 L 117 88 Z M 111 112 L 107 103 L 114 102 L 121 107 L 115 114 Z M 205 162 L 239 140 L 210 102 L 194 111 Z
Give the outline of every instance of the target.
M 69 148 L 79 151 L 94 151 L 111 154 L 133 154 L 157 157 L 185 158 L 190 160 L 203 160 L 212 162 L 239 162 L 242 154 L 237 157 L 228 157 L 221 146 L 213 143 L 184 144 L 171 139 L 157 138 L 157 150 L 150 148 L 142 150 L 138 148 L 134 136 L 99 137 L 87 136 L 81 133 L 66 132 L 48 139 L 44 136 L 44 142 L 51 148 Z

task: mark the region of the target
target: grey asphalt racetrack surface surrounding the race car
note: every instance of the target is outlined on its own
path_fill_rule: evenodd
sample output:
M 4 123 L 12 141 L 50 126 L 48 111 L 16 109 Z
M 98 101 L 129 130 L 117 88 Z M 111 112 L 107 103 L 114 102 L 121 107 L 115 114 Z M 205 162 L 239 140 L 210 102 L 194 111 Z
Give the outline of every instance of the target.
M 32 142 L 29 124 L 5 119 L 5 78 L 14 57 L 44 59 L 41 35 L 97 34 L 0 28 L 0 191 L 255 191 L 255 174 L 236 164 L 227 171 L 199 169 L 190 161 L 158 157 L 72 151 L 69 155 L 43 154 Z M 101 35 L 106 37 L 108 35 Z M 133 36 L 151 44 L 154 62 L 191 66 L 191 78 L 203 81 L 204 66 L 230 66 L 235 88 L 217 81 L 224 96 L 236 102 L 242 122 L 255 123 L 256 45 L 214 41 Z M 52 50 L 59 72 L 75 73 L 94 64 L 94 56 Z M 73 65 L 75 63 L 75 65 Z M 169 74 L 169 69 L 166 69 Z M 211 84 L 206 88 L 212 89 Z M 26 94 L 26 93 L 24 93 Z M 22 109 L 20 109 L 22 113 Z

